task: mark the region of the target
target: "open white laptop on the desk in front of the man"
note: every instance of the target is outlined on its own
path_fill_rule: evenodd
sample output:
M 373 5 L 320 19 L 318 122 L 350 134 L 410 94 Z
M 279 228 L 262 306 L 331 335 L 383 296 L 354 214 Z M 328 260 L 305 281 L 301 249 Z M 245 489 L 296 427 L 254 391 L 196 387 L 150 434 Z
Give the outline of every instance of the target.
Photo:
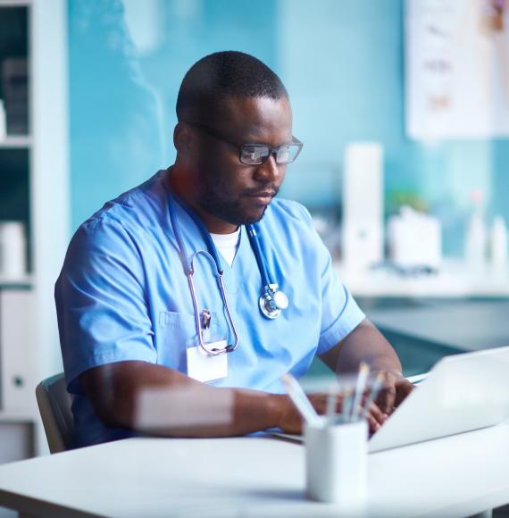
M 368 442 L 370 453 L 478 430 L 509 417 L 509 347 L 442 358 Z M 302 441 L 302 436 L 274 434 Z

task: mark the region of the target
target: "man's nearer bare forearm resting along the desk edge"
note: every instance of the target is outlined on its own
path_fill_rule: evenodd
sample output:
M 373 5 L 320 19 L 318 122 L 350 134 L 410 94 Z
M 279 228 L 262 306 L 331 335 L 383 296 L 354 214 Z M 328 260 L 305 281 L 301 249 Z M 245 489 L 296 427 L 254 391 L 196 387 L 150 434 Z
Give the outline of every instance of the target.
M 144 362 L 97 367 L 81 380 L 107 426 L 172 437 L 228 437 L 277 427 L 291 405 L 286 396 L 215 388 Z

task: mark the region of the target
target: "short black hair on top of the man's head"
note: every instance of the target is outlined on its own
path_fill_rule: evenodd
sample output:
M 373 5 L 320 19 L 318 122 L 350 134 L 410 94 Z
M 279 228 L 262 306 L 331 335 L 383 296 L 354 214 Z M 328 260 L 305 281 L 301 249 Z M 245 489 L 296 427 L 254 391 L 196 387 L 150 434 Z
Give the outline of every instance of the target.
M 227 97 L 288 99 L 280 77 L 250 54 L 223 51 L 206 55 L 184 76 L 177 98 L 179 121 L 204 121 Z

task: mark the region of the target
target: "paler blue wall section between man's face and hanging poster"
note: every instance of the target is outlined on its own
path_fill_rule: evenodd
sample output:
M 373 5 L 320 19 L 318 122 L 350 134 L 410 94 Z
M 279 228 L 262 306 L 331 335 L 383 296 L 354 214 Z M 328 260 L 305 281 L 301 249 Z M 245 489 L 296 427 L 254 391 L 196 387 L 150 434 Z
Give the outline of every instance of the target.
M 447 255 L 463 251 L 471 191 L 488 213 L 509 220 L 506 140 L 420 143 L 405 137 L 405 9 L 402 0 L 292 2 L 280 62 L 292 96 L 296 136 L 305 151 L 288 177 L 287 196 L 308 205 L 339 205 L 346 143 L 385 148 L 388 212 L 398 193 L 418 196 L 444 226 Z M 493 151 L 496 146 L 496 153 Z M 494 194 L 492 194 L 494 193 Z

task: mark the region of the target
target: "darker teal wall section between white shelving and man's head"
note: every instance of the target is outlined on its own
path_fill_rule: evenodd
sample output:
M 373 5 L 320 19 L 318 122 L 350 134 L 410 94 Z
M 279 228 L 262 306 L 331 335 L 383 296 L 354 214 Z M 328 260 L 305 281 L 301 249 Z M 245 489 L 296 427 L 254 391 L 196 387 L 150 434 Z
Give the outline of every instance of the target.
M 157 27 L 147 28 L 157 46 L 143 54 L 121 0 L 69 0 L 73 230 L 172 162 L 179 83 L 198 59 L 235 49 L 278 68 L 275 0 L 130 4 L 157 13 Z

